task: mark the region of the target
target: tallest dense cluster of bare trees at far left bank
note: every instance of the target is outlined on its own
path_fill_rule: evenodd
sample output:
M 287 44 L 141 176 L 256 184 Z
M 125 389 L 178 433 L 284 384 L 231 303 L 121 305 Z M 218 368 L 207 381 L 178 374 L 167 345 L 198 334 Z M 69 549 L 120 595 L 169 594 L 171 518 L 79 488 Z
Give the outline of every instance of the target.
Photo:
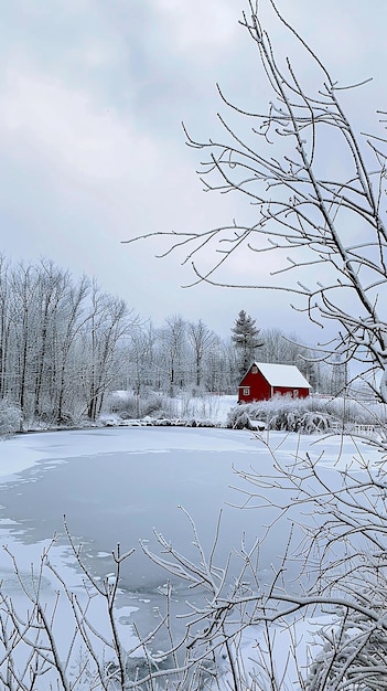
M 95 419 L 135 316 L 95 280 L 74 280 L 49 259 L 0 261 L 0 397 L 24 419 Z

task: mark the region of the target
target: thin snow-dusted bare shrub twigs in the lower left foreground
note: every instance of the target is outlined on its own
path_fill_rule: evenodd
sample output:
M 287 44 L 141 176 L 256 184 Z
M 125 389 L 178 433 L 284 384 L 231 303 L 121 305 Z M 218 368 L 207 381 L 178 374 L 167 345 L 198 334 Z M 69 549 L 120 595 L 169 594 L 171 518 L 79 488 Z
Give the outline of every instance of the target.
M 121 565 L 133 550 L 122 554 L 118 545 L 112 552 L 112 572 L 100 581 L 87 568 L 82 545 L 73 541 L 67 528 L 66 534 L 83 575 L 83 585 L 76 587 L 66 583 L 51 561 L 58 535 L 43 551 L 40 563 L 26 573 L 3 548 L 12 573 L 0 585 L 1 689 L 166 689 L 168 671 L 159 671 L 148 642 L 160 628 L 169 626 L 168 614 L 160 615 L 155 629 L 144 640 L 137 635 L 135 624 L 131 636 L 123 636 L 118 625 L 116 600 Z

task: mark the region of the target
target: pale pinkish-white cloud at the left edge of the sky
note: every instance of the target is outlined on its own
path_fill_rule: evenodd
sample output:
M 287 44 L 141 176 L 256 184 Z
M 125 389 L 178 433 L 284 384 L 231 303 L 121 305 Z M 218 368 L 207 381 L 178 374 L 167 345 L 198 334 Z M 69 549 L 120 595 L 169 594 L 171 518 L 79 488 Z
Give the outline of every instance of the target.
M 13 68 L 0 91 L 0 131 L 3 146 L 24 153 L 31 146 L 54 170 L 66 168 L 75 177 L 119 179 L 132 174 L 133 161 L 152 166 L 157 158 L 146 134 L 89 93 Z

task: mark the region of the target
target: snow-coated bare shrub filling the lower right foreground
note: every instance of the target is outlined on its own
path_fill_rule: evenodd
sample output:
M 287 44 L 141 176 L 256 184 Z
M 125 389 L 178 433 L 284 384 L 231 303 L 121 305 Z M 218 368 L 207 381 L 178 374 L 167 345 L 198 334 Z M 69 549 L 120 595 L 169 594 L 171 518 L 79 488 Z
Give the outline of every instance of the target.
M 319 463 L 324 450 L 316 460 L 300 451 L 297 437 L 287 457 L 270 446 L 267 451 L 265 471 L 261 464 L 236 470 L 239 507 L 265 525 L 264 539 L 248 545 L 243 536 L 219 564 L 221 525 L 205 553 L 189 517 L 196 560 L 161 534 L 158 553 L 143 544 L 155 563 L 205 591 L 202 606 L 187 603 L 190 660 L 207 659 L 209 651 L 223 660 L 208 685 L 214 689 L 385 690 L 386 474 L 359 447 L 334 471 L 340 456 L 326 469 Z M 262 571 L 261 551 L 278 523 L 289 535 L 287 548 L 271 572 Z

